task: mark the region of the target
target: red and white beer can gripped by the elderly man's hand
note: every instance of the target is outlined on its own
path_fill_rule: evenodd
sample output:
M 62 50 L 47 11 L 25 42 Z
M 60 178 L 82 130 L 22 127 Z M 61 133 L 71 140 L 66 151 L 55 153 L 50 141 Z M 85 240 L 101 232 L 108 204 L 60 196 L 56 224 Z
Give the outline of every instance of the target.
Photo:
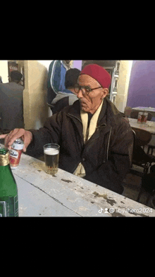
M 24 141 L 21 139 L 16 139 L 16 141 L 13 142 L 9 155 L 11 169 L 16 169 L 18 167 L 23 147 Z

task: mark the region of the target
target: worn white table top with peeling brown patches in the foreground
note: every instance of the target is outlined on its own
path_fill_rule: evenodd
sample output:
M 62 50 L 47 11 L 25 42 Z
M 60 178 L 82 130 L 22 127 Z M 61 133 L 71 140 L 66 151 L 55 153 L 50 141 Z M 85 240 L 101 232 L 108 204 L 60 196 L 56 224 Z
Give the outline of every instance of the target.
M 25 154 L 13 175 L 19 217 L 155 217 L 154 209 L 61 169 L 46 174 L 44 162 Z

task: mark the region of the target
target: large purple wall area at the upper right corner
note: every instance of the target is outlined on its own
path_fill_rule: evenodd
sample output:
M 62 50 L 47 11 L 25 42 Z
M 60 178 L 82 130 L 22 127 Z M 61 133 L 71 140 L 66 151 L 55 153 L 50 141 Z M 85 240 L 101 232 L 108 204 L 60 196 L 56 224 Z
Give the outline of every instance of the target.
M 155 108 L 155 60 L 133 60 L 127 105 Z

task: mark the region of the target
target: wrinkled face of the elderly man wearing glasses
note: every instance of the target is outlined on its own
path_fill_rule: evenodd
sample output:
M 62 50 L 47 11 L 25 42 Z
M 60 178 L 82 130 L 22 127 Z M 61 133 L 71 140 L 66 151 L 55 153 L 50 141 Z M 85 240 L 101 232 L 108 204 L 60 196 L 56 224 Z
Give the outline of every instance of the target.
M 93 79 L 89 75 L 80 75 L 78 79 L 78 84 L 80 86 L 89 86 L 90 89 L 94 89 L 100 87 L 101 85 L 97 80 Z M 89 95 L 83 95 L 80 90 L 77 94 L 77 98 L 80 99 L 81 110 L 84 112 L 94 112 L 97 111 L 104 97 L 109 93 L 108 89 L 100 88 L 95 89 L 94 91 L 90 91 Z

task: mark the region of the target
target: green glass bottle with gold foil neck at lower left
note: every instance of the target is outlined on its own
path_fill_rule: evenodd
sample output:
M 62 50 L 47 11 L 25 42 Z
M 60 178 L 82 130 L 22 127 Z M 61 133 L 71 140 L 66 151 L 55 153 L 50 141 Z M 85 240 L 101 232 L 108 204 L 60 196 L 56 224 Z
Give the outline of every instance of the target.
M 0 217 L 18 217 L 18 189 L 8 155 L 8 149 L 0 148 Z

